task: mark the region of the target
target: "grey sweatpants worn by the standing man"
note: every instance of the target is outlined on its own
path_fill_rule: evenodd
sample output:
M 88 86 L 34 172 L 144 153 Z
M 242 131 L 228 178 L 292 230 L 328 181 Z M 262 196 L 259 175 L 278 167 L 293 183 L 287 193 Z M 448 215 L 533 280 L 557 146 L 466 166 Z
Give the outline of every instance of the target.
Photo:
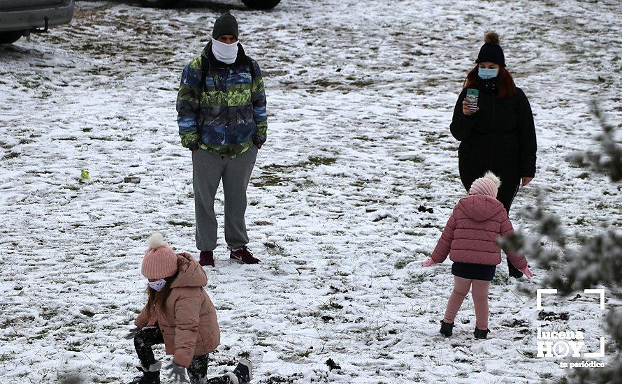
M 257 147 L 251 145 L 243 154 L 231 159 L 199 149 L 192 155 L 192 187 L 196 216 L 196 248 L 216 248 L 218 222 L 214 198 L 222 179 L 224 191 L 224 239 L 233 249 L 248 244 L 246 232 L 246 189 L 257 158 Z

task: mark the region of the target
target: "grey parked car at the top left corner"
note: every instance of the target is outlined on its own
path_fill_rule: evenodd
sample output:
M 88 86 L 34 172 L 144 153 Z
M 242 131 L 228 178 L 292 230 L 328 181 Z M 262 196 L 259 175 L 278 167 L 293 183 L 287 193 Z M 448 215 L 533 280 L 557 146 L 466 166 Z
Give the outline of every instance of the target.
M 0 44 L 70 22 L 73 0 L 0 0 Z

